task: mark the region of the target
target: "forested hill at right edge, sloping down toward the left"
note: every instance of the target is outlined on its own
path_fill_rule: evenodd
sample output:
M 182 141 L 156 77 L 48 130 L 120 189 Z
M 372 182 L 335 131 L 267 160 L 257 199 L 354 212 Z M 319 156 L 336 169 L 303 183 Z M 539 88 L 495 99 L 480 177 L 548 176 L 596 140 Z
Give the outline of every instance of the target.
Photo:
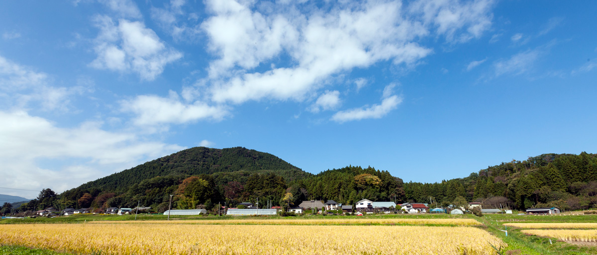
M 496 207 L 514 209 L 597 206 L 597 155 L 542 154 L 489 166 L 466 178 L 435 184 L 404 184 L 405 200 L 450 204 L 458 196 Z

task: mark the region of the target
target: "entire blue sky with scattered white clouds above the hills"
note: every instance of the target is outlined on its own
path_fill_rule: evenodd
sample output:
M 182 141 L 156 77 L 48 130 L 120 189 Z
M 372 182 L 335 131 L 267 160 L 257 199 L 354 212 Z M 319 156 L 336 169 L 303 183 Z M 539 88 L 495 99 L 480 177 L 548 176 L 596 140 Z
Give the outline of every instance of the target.
M 596 11 L 595 1 L 4 1 L 0 193 L 61 192 L 196 146 L 407 182 L 595 153 Z

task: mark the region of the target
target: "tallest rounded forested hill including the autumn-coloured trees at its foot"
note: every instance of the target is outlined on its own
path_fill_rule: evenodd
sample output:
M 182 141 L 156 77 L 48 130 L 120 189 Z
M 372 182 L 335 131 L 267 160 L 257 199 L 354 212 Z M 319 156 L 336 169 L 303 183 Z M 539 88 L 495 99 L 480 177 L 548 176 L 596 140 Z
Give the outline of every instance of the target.
M 273 200 L 284 194 L 288 181 L 310 175 L 269 153 L 242 147 L 195 147 L 65 191 L 56 204 L 61 208 L 133 207 L 140 201 L 142 206 L 163 210 L 168 195 L 176 194 L 174 208 L 206 203 L 213 207 L 227 201 L 226 196 L 232 203 L 259 195 Z

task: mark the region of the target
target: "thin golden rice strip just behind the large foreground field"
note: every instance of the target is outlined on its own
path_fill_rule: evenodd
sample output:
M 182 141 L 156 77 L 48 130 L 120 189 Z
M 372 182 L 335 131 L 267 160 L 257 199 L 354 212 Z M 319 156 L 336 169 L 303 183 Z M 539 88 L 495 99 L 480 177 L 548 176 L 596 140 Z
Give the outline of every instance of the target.
M 239 219 L 239 220 L 147 220 L 96 221 L 91 223 L 204 224 L 204 225 L 482 225 L 474 219 Z

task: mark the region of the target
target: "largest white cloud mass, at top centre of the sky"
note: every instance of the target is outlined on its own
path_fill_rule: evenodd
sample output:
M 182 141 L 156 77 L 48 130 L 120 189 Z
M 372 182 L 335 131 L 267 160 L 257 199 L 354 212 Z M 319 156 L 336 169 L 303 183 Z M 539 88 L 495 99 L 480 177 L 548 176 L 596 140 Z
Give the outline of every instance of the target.
M 399 2 L 338 8 L 327 15 L 267 18 L 233 1 L 208 6 L 216 13 L 203 26 L 211 49 L 220 56 L 210 64 L 211 94 L 217 102 L 239 104 L 264 97 L 302 100 L 340 71 L 382 60 L 413 64 L 432 52 L 412 42 L 427 30 L 405 20 Z M 290 55 L 293 66 L 245 73 L 282 51 Z M 240 70 L 227 71 L 235 67 Z

